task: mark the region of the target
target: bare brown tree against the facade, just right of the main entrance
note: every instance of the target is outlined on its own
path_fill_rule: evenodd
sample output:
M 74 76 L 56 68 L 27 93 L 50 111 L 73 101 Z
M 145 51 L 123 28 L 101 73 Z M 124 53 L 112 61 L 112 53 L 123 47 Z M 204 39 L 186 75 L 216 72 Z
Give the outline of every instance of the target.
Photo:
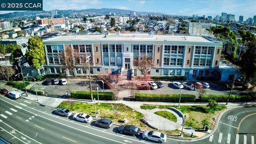
M 150 70 L 154 68 L 152 57 L 148 57 L 147 55 L 142 55 L 139 59 L 134 59 L 133 63 L 144 76 L 149 75 Z

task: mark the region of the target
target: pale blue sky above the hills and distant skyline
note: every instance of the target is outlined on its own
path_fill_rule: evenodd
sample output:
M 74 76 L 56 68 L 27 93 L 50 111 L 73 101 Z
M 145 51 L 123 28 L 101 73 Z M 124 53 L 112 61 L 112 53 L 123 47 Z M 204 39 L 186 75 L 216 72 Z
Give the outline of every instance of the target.
M 165 1 L 149 1 L 149 0 L 43 0 L 44 10 L 81 10 L 81 9 L 101 9 L 116 8 L 132 11 L 161 12 L 175 15 L 221 15 L 221 12 L 235 14 L 238 20 L 239 15 L 244 16 L 244 20 L 256 15 L 256 1 L 199 1 L 199 0 L 165 0 Z

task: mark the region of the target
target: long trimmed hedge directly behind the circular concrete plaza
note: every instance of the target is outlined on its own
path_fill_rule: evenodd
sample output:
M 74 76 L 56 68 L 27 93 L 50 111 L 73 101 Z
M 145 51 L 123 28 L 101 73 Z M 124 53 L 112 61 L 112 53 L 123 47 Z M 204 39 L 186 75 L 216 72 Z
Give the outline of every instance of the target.
M 148 94 L 137 93 L 135 100 L 137 101 L 161 101 L 161 102 L 179 102 L 180 94 Z M 196 95 L 181 94 L 181 102 L 194 102 Z

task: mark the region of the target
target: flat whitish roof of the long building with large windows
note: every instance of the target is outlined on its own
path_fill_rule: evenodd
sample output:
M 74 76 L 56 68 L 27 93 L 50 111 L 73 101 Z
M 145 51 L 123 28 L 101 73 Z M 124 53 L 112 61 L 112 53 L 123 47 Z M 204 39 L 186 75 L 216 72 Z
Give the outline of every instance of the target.
M 61 41 L 169 41 L 214 43 L 203 36 L 149 35 L 149 34 L 109 34 L 109 35 L 66 35 L 45 39 L 44 42 Z M 221 42 L 220 42 L 221 43 Z

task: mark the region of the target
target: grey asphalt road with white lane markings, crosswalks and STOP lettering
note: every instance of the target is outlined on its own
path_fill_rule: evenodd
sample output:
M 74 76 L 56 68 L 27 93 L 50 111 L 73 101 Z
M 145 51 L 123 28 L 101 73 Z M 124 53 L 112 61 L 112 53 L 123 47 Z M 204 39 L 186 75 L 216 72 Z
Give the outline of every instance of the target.
M 0 95 L 0 134 L 12 143 L 153 143 L 53 114 L 55 109 L 23 98 Z M 223 113 L 217 129 L 198 140 L 169 138 L 166 143 L 252 143 L 256 138 L 255 107 L 237 107 Z M 238 130 L 239 129 L 239 130 Z

